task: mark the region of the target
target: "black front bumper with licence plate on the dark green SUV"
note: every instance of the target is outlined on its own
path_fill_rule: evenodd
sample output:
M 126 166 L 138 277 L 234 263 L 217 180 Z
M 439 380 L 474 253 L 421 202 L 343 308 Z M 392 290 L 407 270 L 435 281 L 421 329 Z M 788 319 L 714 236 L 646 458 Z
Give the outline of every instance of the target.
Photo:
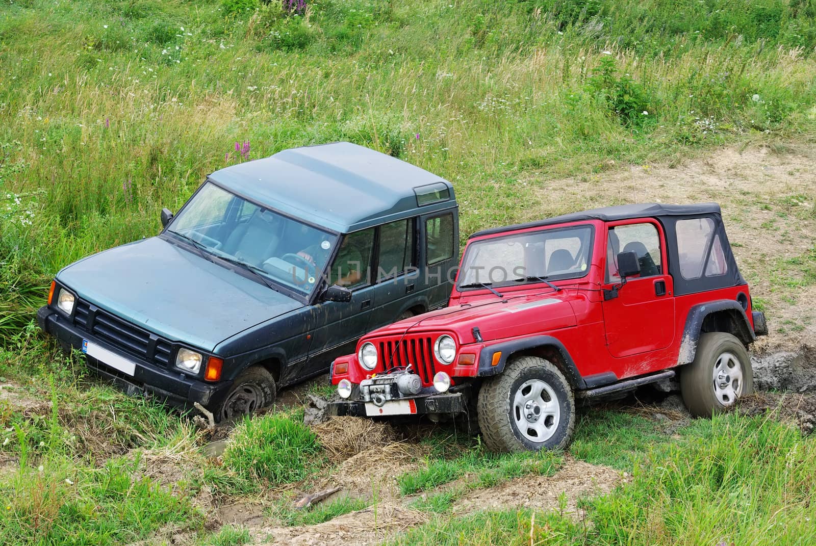
M 180 371 L 162 369 L 140 357 L 124 353 L 119 348 L 98 340 L 86 331 L 73 326 L 68 319 L 48 306 L 38 309 L 37 322 L 42 331 L 53 335 L 64 348 L 81 349 L 82 340 L 88 340 L 134 362 L 135 372 L 131 377 L 86 355 L 87 366 L 91 371 L 95 371 L 106 380 L 113 381 L 130 395 L 144 394 L 180 407 L 193 406 L 195 402 L 198 402 L 212 409 L 224 400 L 232 386 L 232 381 L 209 384 L 194 380 Z

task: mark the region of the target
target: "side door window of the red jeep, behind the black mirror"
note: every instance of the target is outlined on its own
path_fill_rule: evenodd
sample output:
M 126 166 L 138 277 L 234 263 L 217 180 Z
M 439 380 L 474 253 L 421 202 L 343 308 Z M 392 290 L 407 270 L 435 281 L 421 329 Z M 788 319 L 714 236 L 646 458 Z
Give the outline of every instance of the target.
M 634 251 L 641 264 L 641 278 L 663 273 L 661 264 L 660 235 L 654 224 L 618 225 L 609 230 L 606 242 L 606 282 L 619 282 L 618 254 Z

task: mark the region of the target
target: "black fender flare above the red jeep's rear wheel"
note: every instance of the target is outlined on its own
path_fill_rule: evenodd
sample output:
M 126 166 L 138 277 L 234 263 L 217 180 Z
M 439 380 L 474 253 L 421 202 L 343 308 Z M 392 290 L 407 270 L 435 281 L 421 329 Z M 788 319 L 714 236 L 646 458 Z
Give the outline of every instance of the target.
M 680 344 L 680 353 L 677 355 L 678 366 L 690 364 L 694 361 L 694 355 L 697 353 L 697 342 L 700 339 L 700 334 L 703 333 L 703 323 L 706 317 L 711 317 L 715 313 L 717 313 L 716 316 L 723 317 L 724 320 L 729 322 L 727 327 L 721 327 L 715 331 L 734 334 L 743 344 L 749 344 L 756 340 L 756 334 L 754 334 L 754 329 L 751 327 L 751 322 L 748 322 L 745 309 L 737 300 L 716 300 L 697 304 L 689 310 L 689 315 L 685 318 L 683 340 Z

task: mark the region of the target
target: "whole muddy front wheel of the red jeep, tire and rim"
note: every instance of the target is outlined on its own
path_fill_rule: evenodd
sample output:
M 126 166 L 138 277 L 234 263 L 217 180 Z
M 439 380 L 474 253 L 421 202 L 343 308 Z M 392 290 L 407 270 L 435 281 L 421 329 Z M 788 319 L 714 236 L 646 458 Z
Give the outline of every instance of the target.
M 563 449 L 572 440 L 572 388 L 543 358 L 513 358 L 482 384 L 477 409 L 482 440 L 492 451 Z

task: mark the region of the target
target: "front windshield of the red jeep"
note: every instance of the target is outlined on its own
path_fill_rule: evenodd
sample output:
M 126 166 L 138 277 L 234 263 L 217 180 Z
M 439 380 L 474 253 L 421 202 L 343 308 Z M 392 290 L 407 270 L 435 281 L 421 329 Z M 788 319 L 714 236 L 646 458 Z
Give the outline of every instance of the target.
M 591 260 L 591 225 L 492 237 L 468 245 L 458 288 L 513 286 L 584 277 Z

